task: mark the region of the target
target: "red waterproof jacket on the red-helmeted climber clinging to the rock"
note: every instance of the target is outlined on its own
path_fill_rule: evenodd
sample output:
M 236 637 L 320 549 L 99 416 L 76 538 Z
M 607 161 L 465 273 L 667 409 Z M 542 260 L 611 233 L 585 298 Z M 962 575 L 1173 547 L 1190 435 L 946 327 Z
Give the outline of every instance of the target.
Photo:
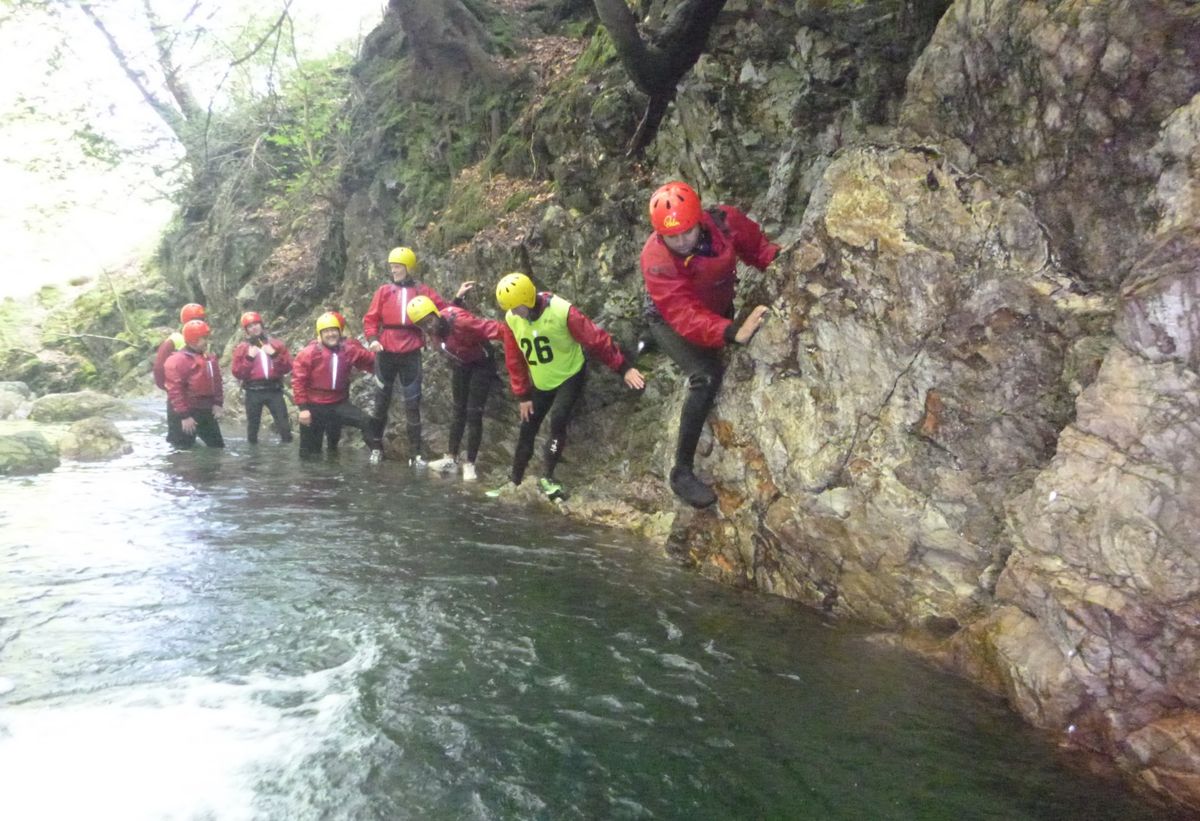
M 704 348 L 720 348 L 727 314 L 733 308 L 737 263 L 763 270 L 779 253 L 758 223 L 730 205 L 701 214 L 701 227 L 712 236 L 713 256 L 679 257 L 658 234 L 642 247 L 646 293 L 679 336 Z

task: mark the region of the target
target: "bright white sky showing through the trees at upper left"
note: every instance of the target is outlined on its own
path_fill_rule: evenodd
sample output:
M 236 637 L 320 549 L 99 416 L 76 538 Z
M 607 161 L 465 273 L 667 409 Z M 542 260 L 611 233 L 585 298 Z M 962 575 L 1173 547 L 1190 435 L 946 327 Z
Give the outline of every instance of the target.
M 224 77 L 253 31 L 276 19 L 284 0 L 152 0 L 162 22 L 203 26 L 176 56 L 208 108 L 264 84 L 253 68 Z M 292 0 L 296 47 L 305 58 L 361 40 L 380 19 L 385 0 Z M 176 142 L 122 73 L 101 32 L 72 4 L 54 0 L 54 17 L 4 17 L 0 0 L 0 296 L 24 295 L 49 282 L 95 276 L 145 253 L 172 214 L 167 169 Z M 97 0 L 114 36 L 154 48 L 137 25 L 140 0 Z M 144 24 L 143 24 L 144 25 Z M 124 26 L 124 28 L 122 28 Z M 257 29 L 256 29 L 257 26 Z M 140 38 L 140 41 L 139 41 Z M 258 88 L 254 91 L 262 92 Z M 84 139 L 79 138 L 82 132 Z M 115 167 L 102 161 L 104 139 L 136 151 Z M 89 157 L 89 152 L 101 158 Z M 156 173 L 156 170 L 158 173 Z M 164 173 L 167 172 L 167 173 Z

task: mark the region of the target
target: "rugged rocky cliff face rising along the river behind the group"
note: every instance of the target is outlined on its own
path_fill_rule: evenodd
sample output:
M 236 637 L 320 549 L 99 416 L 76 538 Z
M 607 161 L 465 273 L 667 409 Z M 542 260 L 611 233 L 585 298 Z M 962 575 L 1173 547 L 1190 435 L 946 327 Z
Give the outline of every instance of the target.
M 562 509 L 919 633 L 1034 724 L 1200 808 L 1195 4 L 730 0 L 637 167 L 622 128 L 640 112 L 602 38 L 550 40 L 529 53 L 587 66 L 532 72 L 494 150 L 427 186 L 412 160 L 444 160 L 444 134 L 367 127 L 427 119 L 390 108 L 406 37 L 389 16 L 359 74 L 344 205 L 296 223 L 304 248 L 232 230 L 209 256 L 197 236 L 180 269 L 210 272 L 210 305 L 306 312 L 306 338 L 324 304 L 361 316 L 416 193 L 449 188 L 403 239 L 443 294 L 523 269 L 631 346 L 649 192 L 679 176 L 742 206 L 786 247 L 743 271 L 744 306 L 773 314 L 730 352 L 701 444 L 718 508 L 666 490 L 684 388 L 652 353 L 641 397 L 592 378 Z M 480 208 L 486 228 L 448 227 Z M 229 258 L 235 275 L 211 274 Z M 485 469 L 512 436 L 515 409 L 493 412 Z

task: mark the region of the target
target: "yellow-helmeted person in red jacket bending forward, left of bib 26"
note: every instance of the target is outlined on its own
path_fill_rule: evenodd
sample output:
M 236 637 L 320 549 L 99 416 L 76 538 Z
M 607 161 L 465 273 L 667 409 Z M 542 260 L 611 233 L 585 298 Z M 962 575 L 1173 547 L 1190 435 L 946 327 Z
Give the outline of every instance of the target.
M 454 418 L 450 420 L 450 447 L 445 456 L 430 462 L 434 471 L 454 471 L 458 466 L 458 447 L 467 433 L 467 461 L 462 480 L 475 481 L 475 459 L 484 438 L 484 406 L 496 382 L 496 358 L 488 340 L 503 338 L 503 325 L 482 319 L 457 305 L 438 310 L 428 296 L 414 296 L 408 302 L 408 317 L 415 322 L 437 350 L 450 360 L 450 395 Z

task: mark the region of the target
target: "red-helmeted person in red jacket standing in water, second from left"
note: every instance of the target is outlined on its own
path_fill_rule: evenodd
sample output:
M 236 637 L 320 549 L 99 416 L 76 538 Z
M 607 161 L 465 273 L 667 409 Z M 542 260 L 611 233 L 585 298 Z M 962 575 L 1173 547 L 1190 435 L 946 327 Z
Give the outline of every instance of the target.
M 221 406 L 224 389 L 221 364 L 208 353 L 210 329 L 203 319 L 184 323 L 184 348 L 167 359 L 167 442 L 187 449 L 200 437 L 210 448 L 224 448 Z

